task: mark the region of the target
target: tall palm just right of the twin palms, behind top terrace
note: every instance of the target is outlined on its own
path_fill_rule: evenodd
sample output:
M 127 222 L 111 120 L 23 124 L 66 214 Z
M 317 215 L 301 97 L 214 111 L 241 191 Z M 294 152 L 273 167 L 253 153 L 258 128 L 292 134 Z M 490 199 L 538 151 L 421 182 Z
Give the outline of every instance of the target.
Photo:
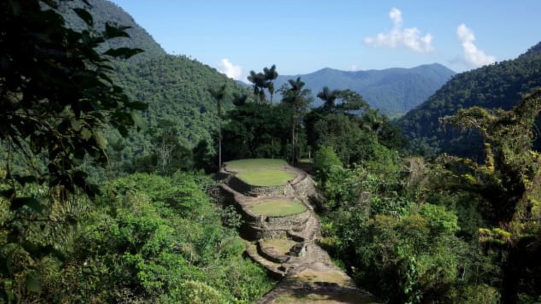
M 312 102 L 311 91 L 304 89 L 305 83 L 298 77 L 296 80 L 288 80 L 289 87 L 282 87 L 282 102 L 289 105 L 291 111 L 291 161 L 298 160 L 298 132 L 300 120 L 306 113 L 308 104 Z

